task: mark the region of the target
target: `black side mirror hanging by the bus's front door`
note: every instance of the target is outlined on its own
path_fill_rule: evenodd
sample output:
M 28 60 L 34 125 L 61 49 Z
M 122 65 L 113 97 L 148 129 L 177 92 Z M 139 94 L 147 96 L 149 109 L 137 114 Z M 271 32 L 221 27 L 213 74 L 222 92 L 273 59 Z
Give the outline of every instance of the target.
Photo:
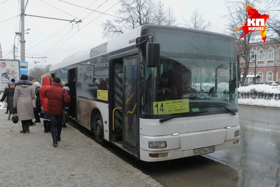
M 160 43 L 148 42 L 146 44 L 146 66 L 160 66 Z

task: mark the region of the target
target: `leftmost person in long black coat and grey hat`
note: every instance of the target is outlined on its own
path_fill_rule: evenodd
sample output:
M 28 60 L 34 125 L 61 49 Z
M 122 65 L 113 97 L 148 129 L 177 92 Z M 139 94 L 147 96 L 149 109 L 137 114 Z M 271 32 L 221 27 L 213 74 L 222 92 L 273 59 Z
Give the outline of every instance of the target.
M 8 81 L 7 84 L 8 85 L 5 87 L 4 94 L 0 101 L 3 102 L 7 97 L 7 110 L 9 111 L 8 120 L 10 120 L 11 114 L 17 113 L 16 109 L 13 108 L 15 86 L 11 81 Z

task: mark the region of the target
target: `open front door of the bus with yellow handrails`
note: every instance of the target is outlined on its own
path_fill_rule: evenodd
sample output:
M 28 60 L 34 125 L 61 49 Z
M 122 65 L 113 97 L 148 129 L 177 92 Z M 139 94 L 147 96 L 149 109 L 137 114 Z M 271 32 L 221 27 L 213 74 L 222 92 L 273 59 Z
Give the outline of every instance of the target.
M 109 105 L 112 114 L 110 140 L 139 157 L 138 55 L 110 60 L 110 66 L 113 67 L 109 84 L 109 95 L 113 95 Z

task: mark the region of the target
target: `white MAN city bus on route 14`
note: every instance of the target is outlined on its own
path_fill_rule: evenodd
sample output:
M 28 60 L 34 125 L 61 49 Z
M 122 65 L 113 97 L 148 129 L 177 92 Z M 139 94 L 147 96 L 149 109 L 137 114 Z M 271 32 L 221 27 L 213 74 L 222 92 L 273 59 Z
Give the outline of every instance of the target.
M 70 113 L 97 143 L 113 143 L 140 160 L 239 145 L 233 37 L 142 25 L 51 66 L 50 74 L 69 82 Z

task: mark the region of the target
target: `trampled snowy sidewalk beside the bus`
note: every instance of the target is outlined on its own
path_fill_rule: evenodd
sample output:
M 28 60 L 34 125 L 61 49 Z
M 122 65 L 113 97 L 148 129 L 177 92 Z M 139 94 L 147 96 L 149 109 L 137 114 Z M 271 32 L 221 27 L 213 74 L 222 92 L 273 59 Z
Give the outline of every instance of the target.
M 161 186 L 70 125 L 54 148 L 43 122 L 22 134 L 0 110 L 0 186 Z

